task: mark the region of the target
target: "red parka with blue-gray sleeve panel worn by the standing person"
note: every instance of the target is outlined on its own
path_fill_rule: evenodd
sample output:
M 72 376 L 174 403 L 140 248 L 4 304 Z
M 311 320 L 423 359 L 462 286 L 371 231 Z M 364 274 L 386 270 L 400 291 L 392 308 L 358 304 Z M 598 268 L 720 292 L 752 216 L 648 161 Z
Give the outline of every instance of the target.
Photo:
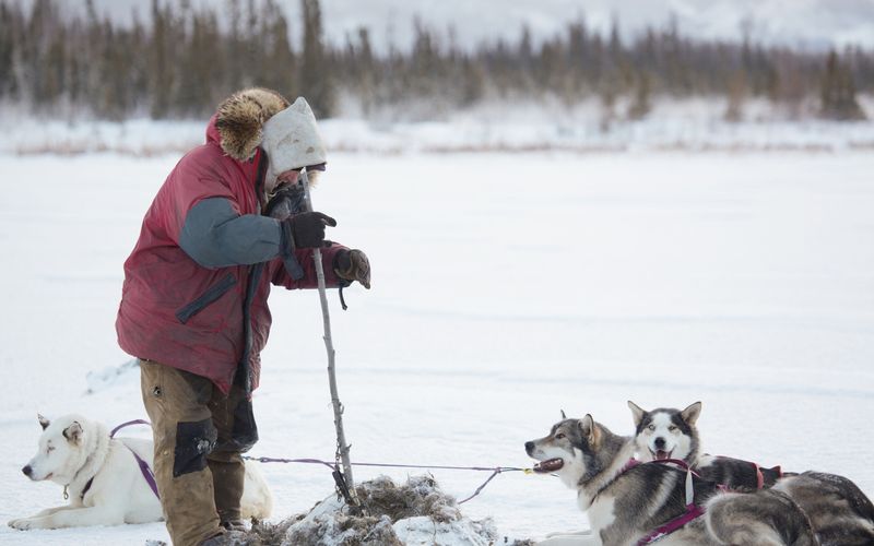
M 227 155 L 222 138 L 229 136 L 220 135 L 216 116 L 206 143 L 179 161 L 143 218 L 125 262 L 116 330 L 127 353 L 228 392 L 244 359 L 258 385 L 270 285 L 312 288 L 317 281 L 311 249 L 294 251 L 304 277 L 292 280 L 280 258 L 280 223 L 261 215 L 265 154 Z M 328 286 L 338 285 L 331 265 L 341 248 L 322 250 Z

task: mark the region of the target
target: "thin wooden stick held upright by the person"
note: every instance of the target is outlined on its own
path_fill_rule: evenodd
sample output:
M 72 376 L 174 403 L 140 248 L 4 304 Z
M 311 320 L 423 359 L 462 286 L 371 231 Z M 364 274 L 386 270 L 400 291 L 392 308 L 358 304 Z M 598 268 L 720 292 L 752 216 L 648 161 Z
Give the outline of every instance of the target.
M 304 194 L 306 197 L 305 209 L 312 211 L 312 200 L 309 195 L 309 178 L 307 177 L 306 169 L 300 171 L 300 183 L 304 186 Z M 331 342 L 331 316 L 328 312 L 328 296 L 324 289 L 324 269 L 321 264 L 321 250 L 316 248 L 312 250 L 312 259 L 316 263 L 316 277 L 319 282 L 319 299 L 321 299 L 321 316 L 324 324 L 324 348 L 328 351 L 328 382 L 331 388 L 331 403 L 334 407 L 334 427 L 336 428 L 336 460 L 342 461 L 343 474 L 338 476 L 338 471 L 334 472 L 334 480 L 340 488 L 340 492 L 346 498 L 346 501 L 354 508 L 358 508 L 358 499 L 355 495 L 355 484 L 352 479 L 352 464 L 349 459 L 350 446 L 346 444 L 346 435 L 343 431 L 343 404 L 340 403 L 340 395 L 336 390 L 336 372 L 334 368 L 334 346 Z

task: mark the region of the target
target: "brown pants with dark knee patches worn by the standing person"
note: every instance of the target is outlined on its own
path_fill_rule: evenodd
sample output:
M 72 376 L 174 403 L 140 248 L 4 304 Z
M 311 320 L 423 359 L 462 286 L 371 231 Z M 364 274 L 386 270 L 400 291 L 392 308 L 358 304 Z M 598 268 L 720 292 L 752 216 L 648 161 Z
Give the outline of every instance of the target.
M 140 360 L 140 379 L 167 531 L 176 546 L 199 545 L 240 519 L 241 453 L 258 439 L 251 401 L 236 384 L 224 395 L 204 377 L 152 360 Z

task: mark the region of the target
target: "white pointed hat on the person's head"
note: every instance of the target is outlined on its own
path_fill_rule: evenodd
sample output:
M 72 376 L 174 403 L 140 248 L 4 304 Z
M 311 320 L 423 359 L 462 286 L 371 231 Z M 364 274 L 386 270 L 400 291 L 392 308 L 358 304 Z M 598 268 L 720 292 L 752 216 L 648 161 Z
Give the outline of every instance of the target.
M 271 178 L 326 162 L 324 143 L 306 98 L 297 97 L 292 106 L 264 122 L 261 147 L 270 161 Z

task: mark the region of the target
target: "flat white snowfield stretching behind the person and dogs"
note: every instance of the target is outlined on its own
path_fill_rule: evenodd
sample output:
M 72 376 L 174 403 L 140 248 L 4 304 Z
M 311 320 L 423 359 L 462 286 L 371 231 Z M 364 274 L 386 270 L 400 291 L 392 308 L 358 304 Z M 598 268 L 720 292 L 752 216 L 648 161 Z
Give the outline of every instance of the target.
M 37 412 L 145 416 L 135 370 L 87 377 L 129 359 L 121 266 L 177 158 L 0 155 L 0 522 L 64 502 L 21 473 Z M 527 466 L 523 442 L 560 410 L 630 434 L 629 399 L 700 400 L 706 451 L 874 494 L 872 173 L 874 155 L 852 151 L 332 155 L 314 201 L 374 268 L 349 311 L 330 296 L 353 460 Z M 252 454 L 330 459 L 318 296 L 274 292 L 271 307 Z M 275 521 L 333 490 L 319 466 L 263 472 Z M 465 497 L 487 474 L 434 476 Z M 522 473 L 463 511 L 510 537 L 587 526 L 574 492 Z M 1 544 L 166 537 L 161 523 L 0 527 Z

